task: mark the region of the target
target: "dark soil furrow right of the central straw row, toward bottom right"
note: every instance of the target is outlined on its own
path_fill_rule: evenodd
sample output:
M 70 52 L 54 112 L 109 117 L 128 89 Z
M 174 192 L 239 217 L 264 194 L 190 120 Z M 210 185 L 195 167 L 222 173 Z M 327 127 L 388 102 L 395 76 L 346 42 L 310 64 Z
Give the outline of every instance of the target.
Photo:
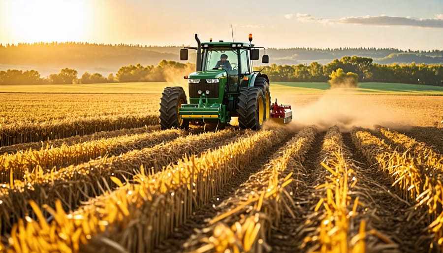
M 426 252 L 430 240 L 426 239 L 423 210 L 414 211 L 413 206 L 401 199 L 392 187 L 392 182 L 376 167 L 368 164 L 363 155 L 357 150 L 351 140 L 350 133 L 343 134 L 345 145 L 352 153 L 352 159 L 358 164 L 359 194 L 363 196 L 365 216 L 369 228 L 374 228 L 390 238 L 397 246 L 383 244 L 375 236 L 367 239 L 368 252 Z M 374 245 L 377 245 L 375 247 Z M 373 247 L 370 247 L 373 246 Z

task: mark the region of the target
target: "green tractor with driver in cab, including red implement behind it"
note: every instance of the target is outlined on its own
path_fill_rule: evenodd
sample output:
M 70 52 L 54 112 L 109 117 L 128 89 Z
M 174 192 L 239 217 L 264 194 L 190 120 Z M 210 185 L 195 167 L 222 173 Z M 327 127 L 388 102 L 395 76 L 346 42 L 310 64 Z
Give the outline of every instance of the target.
M 275 117 L 271 116 L 274 104 L 271 108 L 268 76 L 253 71 L 252 61 L 259 59 L 259 48 L 251 44 L 252 34 L 249 43 L 212 42 L 212 39 L 201 43 L 197 34 L 195 40 L 197 47 L 180 50 L 180 60 L 184 61 L 188 60 L 188 49 L 197 50 L 196 71 L 185 76 L 189 103 L 182 87 L 166 87 L 160 101 L 162 129 L 188 128 L 190 123 L 225 124 L 231 117 L 238 117 L 240 128 L 258 130 Z M 262 63 L 268 62 L 265 51 Z M 286 118 L 291 119 L 291 112 L 285 112 Z

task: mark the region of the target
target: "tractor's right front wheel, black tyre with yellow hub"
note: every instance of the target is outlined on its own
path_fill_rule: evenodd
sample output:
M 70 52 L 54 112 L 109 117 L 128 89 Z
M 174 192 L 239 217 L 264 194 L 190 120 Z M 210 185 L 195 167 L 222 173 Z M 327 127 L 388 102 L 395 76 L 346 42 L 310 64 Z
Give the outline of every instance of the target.
M 259 130 L 264 122 L 264 95 L 258 87 L 240 89 L 238 96 L 238 125 L 240 128 Z

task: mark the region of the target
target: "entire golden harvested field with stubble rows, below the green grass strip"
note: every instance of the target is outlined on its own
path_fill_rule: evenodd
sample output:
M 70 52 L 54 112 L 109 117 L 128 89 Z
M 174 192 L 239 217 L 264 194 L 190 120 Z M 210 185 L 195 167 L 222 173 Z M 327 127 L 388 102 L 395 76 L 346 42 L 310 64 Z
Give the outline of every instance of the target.
M 443 250 L 441 96 L 284 99 L 286 126 L 185 131 L 158 95 L 11 95 L 0 253 Z

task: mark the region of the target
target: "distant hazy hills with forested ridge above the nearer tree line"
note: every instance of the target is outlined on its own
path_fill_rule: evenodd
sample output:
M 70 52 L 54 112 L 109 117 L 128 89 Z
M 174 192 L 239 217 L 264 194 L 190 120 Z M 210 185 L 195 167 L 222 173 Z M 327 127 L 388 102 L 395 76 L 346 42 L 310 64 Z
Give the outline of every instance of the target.
M 62 69 L 101 69 L 114 71 L 122 65 L 141 63 L 158 64 L 161 60 L 179 61 L 182 46 L 151 46 L 141 44 L 104 44 L 88 42 L 35 42 L 0 44 L 0 64 L 29 65 Z M 267 48 L 271 63 L 278 65 L 300 63 L 327 64 L 344 56 L 370 57 L 374 63 L 426 63 L 442 64 L 443 51 L 402 50 L 396 48 Z

